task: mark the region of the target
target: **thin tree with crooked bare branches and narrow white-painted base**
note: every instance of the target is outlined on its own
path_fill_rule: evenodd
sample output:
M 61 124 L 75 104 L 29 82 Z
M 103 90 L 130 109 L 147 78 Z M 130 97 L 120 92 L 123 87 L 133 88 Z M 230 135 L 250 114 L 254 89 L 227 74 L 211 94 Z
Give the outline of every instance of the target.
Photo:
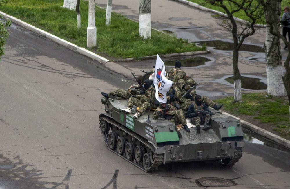
M 256 21 L 261 19 L 263 15 L 261 6 L 253 0 L 206 0 L 211 5 L 218 6 L 224 9 L 227 19 L 223 19 L 220 25 L 229 30 L 233 35 L 233 71 L 234 71 L 234 101 L 242 100 L 242 83 L 241 75 L 238 69 L 239 49 L 244 40 L 253 35 L 256 31 L 254 27 Z M 247 17 L 247 24 L 240 24 L 238 27 L 235 21 L 234 14 L 244 12 Z

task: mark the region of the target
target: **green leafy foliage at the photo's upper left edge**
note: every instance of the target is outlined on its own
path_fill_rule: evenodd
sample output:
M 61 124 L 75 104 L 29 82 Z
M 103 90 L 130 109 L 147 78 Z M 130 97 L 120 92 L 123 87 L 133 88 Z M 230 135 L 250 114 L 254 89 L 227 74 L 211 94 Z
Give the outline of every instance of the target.
M 5 2 L 3 0 L 0 0 L 0 7 L 2 3 Z M 4 55 L 5 50 L 4 50 L 4 45 L 6 42 L 6 39 L 8 39 L 9 33 L 6 30 L 7 27 L 11 25 L 11 21 L 9 19 L 4 19 L 3 15 L 0 14 L 0 60 L 1 56 Z

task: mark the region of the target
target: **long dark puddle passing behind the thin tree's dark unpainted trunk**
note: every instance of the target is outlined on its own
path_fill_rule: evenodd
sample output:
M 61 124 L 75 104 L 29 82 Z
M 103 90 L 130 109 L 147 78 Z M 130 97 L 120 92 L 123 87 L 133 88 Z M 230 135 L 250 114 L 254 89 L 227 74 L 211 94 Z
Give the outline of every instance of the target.
M 215 49 L 218 50 L 224 50 L 224 51 L 231 51 L 233 50 L 233 43 L 231 42 L 225 42 L 220 40 L 214 40 L 214 41 L 199 41 L 196 42 L 200 45 L 206 45 L 210 47 L 215 47 Z M 257 46 L 257 45 L 248 45 L 243 44 L 240 47 L 240 51 L 249 51 L 249 52 L 265 52 L 264 48 Z

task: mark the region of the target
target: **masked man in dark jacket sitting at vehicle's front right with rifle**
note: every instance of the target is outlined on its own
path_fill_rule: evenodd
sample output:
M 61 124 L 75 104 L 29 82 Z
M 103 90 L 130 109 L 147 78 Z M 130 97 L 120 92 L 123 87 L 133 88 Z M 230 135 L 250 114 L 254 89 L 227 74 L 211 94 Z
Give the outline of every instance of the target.
M 202 130 L 207 131 L 211 129 L 209 125 L 209 120 L 211 119 L 211 115 L 208 113 L 198 112 L 199 111 L 206 111 L 211 112 L 209 108 L 202 103 L 201 96 L 195 95 L 195 102 L 193 102 L 187 111 L 187 115 L 191 118 L 191 123 L 196 125 L 197 133 L 200 133 L 200 124 L 204 123 L 204 127 Z

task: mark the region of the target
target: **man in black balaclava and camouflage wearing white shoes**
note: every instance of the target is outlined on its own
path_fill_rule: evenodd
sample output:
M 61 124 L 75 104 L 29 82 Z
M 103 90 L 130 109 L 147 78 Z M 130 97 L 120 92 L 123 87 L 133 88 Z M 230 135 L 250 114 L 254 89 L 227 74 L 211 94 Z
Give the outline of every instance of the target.
M 132 95 L 127 104 L 126 109 L 122 109 L 126 113 L 131 113 L 131 109 L 133 105 L 139 107 L 139 110 L 134 115 L 134 118 L 138 119 L 139 116 L 147 109 L 147 107 L 153 107 L 153 103 L 155 101 L 155 88 L 151 86 L 152 81 L 145 80 L 144 81 L 144 88 L 145 88 L 145 94 L 142 95 Z

